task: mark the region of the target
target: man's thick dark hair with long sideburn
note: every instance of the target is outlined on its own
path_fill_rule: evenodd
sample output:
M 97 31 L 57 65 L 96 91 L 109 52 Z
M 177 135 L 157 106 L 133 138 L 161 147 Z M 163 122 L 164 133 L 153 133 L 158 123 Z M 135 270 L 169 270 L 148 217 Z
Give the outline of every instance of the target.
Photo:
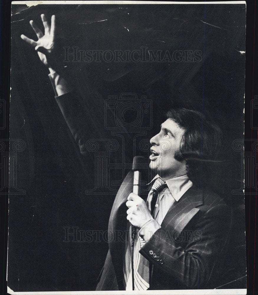
M 167 118 L 185 130 L 176 160 L 186 160 L 188 177 L 195 183 L 205 180 L 221 147 L 221 129 L 198 111 L 171 109 Z

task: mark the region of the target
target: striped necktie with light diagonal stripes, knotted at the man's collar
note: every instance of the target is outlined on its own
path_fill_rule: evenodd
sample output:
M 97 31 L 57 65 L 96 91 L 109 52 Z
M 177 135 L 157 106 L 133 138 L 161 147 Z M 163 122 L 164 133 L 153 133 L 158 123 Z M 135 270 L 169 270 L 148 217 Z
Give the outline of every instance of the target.
M 156 178 L 152 188 L 149 191 L 149 197 L 151 197 L 151 214 L 155 204 L 157 202 L 158 194 L 167 187 L 167 184 L 161 179 Z M 149 260 L 143 257 L 139 251 L 145 244 L 142 237 L 137 232 L 136 243 L 134 243 L 134 289 L 135 290 L 147 290 L 149 288 Z M 130 290 L 132 286 L 132 271 L 126 284 L 126 290 Z

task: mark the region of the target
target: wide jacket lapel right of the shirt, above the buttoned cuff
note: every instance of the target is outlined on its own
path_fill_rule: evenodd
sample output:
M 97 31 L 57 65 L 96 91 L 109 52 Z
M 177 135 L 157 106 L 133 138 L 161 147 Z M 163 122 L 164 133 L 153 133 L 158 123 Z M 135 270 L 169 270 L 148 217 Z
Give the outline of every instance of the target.
M 190 187 L 188 191 L 183 194 L 178 202 L 174 202 L 168 210 L 161 226 L 165 230 L 175 230 L 174 237 L 177 238 L 183 231 L 188 222 L 200 210 L 196 208 L 203 204 L 203 191 L 195 186 Z

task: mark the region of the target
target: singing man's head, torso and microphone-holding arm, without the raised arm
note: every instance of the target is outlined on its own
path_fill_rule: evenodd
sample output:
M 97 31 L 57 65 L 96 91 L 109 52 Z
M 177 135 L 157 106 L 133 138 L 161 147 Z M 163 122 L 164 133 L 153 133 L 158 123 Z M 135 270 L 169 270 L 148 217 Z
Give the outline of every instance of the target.
M 149 168 L 158 174 L 146 201 L 131 192 L 133 174 L 126 176 L 109 230 L 125 230 L 129 222 L 139 229 L 134 244 L 135 290 L 219 286 L 231 212 L 202 181 L 207 173 L 204 163 L 214 161 L 220 141 L 219 128 L 200 112 L 172 109 L 150 140 Z M 97 290 L 132 290 L 131 255 L 130 240 L 124 247 L 117 241 L 109 243 Z

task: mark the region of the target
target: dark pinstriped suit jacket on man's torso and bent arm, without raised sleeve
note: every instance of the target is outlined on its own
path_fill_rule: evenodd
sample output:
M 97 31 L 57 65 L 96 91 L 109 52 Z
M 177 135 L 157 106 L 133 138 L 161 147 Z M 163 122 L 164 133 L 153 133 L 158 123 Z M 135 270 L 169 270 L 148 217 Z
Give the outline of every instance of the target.
M 125 202 L 132 192 L 132 183 L 133 173 L 128 173 L 116 195 L 109 219 L 109 231 L 114 235 L 116 231 L 126 229 Z M 140 250 L 153 265 L 149 289 L 213 289 L 220 286 L 230 226 L 231 210 L 224 201 L 208 189 L 191 187 L 172 205 L 161 228 Z M 122 242 L 109 242 L 96 290 L 124 289 L 123 250 Z

